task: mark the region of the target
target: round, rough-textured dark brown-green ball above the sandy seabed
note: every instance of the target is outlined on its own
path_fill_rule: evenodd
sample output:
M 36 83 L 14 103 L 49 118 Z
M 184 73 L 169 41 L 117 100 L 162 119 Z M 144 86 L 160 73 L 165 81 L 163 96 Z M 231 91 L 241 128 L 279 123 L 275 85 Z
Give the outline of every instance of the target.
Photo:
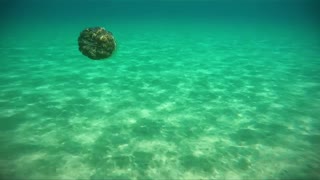
M 111 32 L 102 27 L 87 28 L 78 38 L 79 50 L 93 60 L 108 58 L 116 48 Z

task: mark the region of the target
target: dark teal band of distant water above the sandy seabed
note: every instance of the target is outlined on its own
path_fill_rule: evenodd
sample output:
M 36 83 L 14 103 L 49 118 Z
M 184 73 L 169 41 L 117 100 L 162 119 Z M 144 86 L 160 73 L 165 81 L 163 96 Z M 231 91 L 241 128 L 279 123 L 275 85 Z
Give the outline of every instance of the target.
M 282 21 L 317 20 L 319 3 L 310 0 L 2 0 L 5 20 L 24 18 L 41 21 L 83 21 L 91 18 L 132 20 L 135 18 L 196 18 L 198 20 Z M 12 18 L 12 19 L 11 19 Z

